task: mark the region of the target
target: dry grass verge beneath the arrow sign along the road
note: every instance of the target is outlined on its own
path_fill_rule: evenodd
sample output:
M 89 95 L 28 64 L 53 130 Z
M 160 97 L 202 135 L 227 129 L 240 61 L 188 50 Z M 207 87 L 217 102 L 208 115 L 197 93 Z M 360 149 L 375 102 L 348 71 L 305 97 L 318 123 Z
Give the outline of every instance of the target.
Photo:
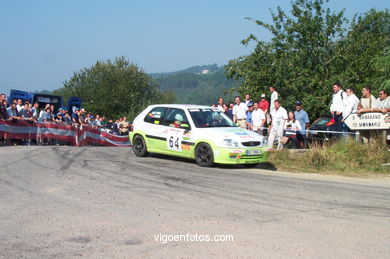
M 278 170 L 316 172 L 348 176 L 390 175 L 390 152 L 381 144 L 363 145 L 353 139 L 330 144 L 314 144 L 306 152 L 271 151 L 271 162 Z

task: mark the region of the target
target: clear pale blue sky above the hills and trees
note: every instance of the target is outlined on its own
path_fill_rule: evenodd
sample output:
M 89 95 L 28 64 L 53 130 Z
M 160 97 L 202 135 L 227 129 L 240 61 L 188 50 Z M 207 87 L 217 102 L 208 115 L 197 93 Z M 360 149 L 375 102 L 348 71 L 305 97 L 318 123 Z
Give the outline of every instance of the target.
M 96 61 L 125 56 L 147 73 L 172 72 L 249 54 L 240 41 L 271 35 L 245 17 L 271 22 L 290 0 L 0 0 L 0 92 L 54 90 Z M 351 19 L 387 0 L 331 0 Z

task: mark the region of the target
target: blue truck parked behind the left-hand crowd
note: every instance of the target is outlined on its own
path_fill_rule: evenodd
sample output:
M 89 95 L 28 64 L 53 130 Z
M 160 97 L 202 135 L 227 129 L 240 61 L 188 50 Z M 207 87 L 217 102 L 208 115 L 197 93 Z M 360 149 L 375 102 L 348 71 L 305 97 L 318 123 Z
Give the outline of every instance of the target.
M 65 106 L 64 99 L 59 95 L 31 93 L 12 89 L 8 96 L 8 103 L 11 103 L 14 99 L 22 99 L 23 102 L 29 101 L 30 103 L 38 102 L 40 109 L 45 108 L 46 104 L 54 105 L 55 112 L 57 112 L 59 108 L 62 108 L 68 110 L 70 114 L 73 113 L 75 108 L 81 109 L 82 104 L 81 98 L 79 97 L 70 97 Z

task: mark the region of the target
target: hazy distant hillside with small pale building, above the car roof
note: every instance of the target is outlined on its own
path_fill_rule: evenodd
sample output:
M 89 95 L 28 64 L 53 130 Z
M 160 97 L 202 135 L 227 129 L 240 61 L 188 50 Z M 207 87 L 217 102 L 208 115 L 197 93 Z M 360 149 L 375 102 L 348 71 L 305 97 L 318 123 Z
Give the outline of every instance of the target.
M 202 74 L 202 71 L 207 73 Z M 238 82 L 227 79 L 223 67 L 216 64 L 171 73 L 154 73 L 151 76 L 163 91 L 175 94 L 176 103 L 211 105 L 216 103 L 219 96 L 230 101 L 232 89 L 238 87 Z

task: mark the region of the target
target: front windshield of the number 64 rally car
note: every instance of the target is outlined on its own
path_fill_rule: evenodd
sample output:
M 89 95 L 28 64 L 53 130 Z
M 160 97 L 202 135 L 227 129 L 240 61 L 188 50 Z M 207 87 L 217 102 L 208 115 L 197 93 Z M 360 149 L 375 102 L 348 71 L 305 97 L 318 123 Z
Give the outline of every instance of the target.
M 212 109 L 188 109 L 197 128 L 237 127 L 223 112 Z

